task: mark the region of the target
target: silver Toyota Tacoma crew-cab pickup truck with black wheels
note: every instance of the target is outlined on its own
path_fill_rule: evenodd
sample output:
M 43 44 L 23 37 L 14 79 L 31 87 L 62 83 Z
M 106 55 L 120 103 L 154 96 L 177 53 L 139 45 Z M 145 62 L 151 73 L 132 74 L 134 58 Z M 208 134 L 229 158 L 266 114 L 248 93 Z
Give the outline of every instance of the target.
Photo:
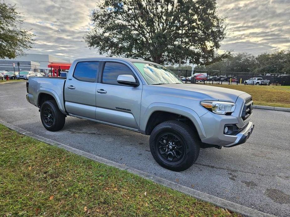
M 47 130 L 61 130 L 69 115 L 150 135 L 154 159 L 174 171 L 189 168 L 200 148 L 245 143 L 254 128 L 249 94 L 184 84 L 137 59 L 77 59 L 67 78 L 29 77 L 26 87 Z

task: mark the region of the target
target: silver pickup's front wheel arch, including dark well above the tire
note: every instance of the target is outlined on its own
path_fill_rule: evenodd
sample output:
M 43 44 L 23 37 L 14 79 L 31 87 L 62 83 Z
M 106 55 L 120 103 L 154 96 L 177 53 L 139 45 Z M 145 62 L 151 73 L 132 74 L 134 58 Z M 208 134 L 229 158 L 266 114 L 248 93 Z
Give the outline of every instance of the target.
M 194 127 L 200 139 L 206 137 L 205 130 L 198 114 L 190 108 L 170 103 L 152 103 L 140 119 L 140 131 L 150 135 L 154 127 L 167 120 L 189 121 L 189 126 Z

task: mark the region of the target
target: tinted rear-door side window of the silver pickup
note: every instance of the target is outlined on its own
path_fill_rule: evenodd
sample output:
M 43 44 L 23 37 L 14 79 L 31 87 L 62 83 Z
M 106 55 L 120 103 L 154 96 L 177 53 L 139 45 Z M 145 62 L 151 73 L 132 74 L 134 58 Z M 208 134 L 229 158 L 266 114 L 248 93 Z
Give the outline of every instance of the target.
M 80 81 L 94 82 L 98 73 L 99 62 L 79 62 L 73 77 Z

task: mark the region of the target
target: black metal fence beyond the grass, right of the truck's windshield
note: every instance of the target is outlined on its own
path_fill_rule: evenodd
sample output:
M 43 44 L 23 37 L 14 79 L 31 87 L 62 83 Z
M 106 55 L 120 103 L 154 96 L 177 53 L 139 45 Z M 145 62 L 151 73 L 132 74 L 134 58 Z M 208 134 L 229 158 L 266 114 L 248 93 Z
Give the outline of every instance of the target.
M 204 83 L 204 84 L 244 84 L 245 80 L 250 78 L 263 78 L 269 80 L 270 85 L 290 85 L 290 74 L 262 74 L 247 72 L 222 72 L 220 70 L 171 70 L 185 83 Z M 248 83 L 256 85 L 256 83 Z

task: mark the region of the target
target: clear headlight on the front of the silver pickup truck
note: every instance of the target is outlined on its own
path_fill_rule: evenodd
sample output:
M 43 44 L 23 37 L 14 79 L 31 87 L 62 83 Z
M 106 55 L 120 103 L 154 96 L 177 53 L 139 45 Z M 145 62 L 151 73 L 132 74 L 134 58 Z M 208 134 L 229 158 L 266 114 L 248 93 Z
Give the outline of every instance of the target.
M 221 101 L 204 100 L 200 102 L 204 108 L 215 114 L 227 114 L 235 111 L 236 104 Z

